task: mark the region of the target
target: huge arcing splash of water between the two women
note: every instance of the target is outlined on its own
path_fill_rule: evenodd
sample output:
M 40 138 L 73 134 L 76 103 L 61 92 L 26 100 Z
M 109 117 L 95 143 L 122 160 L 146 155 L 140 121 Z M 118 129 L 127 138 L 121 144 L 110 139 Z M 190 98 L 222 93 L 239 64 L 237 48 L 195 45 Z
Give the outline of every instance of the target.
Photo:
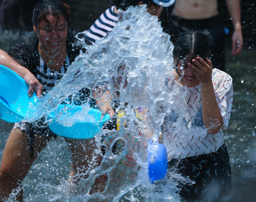
M 100 86 L 109 89 L 118 102 L 116 111 L 122 109 L 125 112 L 119 121 L 119 131 L 104 130 L 95 137 L 99 147 L 102 136 L 105 137 L 106 153 L 101 166 L 84 173 L 89 177 L 80 181 L 79 191 L 74 196 L 56 196 L 58 200 L 179 201 L 174 178 L 180 176 L 169 174 L 163 181 L 150 183 L 146 163 L 148 139 L 138 131 L 138 128 L 153 127 L 152 141 L 158 140 L 164 113 L 168 111 L 168 108 L 159 111 L 158 104 L 173 104 L 170 101 L 172 94 L 165 87 L 165 78 L 173 69 L 173 44 L 169 37 L 163 32 L 158 18 L 147 13 L 146 6 L 129 8 L 106 38 L 93 46 L 85 45 L 86 53 L 77 57 L 55 88 L 39 99 L 32 109 L 29 121 L 47 116 L 79 89 Z M 148 112 L 147 121 L 140 121 L 138 113 L 134 113 L 140 110 Z M 113 153 L 116 142 L 119 149 Z M 104 174 L 108 176 L 104 192 L 89 195 L 93 181 Z

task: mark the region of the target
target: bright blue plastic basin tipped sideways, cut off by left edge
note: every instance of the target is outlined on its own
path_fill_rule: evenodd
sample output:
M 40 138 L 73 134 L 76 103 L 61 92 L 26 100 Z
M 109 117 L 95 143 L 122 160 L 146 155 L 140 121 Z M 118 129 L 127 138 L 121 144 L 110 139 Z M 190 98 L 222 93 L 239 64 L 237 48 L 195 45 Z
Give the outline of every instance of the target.
M 37 102 L 35 93 L 28 96 L 29 86 L 18 74 L 0 65 L 0 118 L 19 122 L 26 117 L 29 106 Z

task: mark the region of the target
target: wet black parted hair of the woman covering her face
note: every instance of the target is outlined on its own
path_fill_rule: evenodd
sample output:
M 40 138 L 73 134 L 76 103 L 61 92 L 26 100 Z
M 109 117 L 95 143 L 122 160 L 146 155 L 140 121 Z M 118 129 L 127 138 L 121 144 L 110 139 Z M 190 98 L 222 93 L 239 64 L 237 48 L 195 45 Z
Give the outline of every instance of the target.
M 176 67 L 179 60 L 191 61 L 195 57 L 210 58 L 210 48 L 206 36 L 201 31 L 187 31 L 177 39 L 174 44 L 173 57 Z

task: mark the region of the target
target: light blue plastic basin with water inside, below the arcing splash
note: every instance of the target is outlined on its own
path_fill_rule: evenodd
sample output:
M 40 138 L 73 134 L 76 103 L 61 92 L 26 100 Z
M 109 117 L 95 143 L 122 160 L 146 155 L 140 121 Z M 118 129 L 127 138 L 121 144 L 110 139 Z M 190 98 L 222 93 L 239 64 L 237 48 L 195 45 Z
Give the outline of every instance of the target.
M 105 114 L 101 120 L 99 109 L 89 108 L 87 116 L 83 115 L 88 118 L 84 120 L 80 120 L 80 113 L 82 113 L 82 107 L 79 105 L 60 104 L 48 115 L 48 119 L 51 119 L 48 125 L 56 135 L 74 139 L 90 139 L 101 130 L 104 122 L 110 119 L 109 114 Z

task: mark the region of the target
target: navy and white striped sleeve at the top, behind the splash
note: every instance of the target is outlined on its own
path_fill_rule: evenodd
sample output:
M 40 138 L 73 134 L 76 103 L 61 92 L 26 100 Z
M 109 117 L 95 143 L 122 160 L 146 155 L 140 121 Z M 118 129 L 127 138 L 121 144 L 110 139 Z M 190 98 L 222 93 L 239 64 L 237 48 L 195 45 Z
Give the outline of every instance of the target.
M 114 12 L 115 6 L 108 8 L 101 16 L 95 21 L 86 33 L 86 38 L 95 44 L 97 40 L 105 37 L 115 27 L 119 17 Z

